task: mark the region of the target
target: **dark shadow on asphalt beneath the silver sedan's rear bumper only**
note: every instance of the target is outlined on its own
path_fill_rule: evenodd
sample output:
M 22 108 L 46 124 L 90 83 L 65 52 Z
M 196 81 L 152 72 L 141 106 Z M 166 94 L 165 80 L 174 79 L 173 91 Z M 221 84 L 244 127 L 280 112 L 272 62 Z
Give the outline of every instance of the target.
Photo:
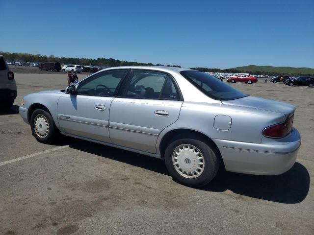
M 214 192 L 231 190 L 252 198 L 295 204 L 306 198 L 309 188 L 309 172 L 302 164 L 296 162 L 290 170 L 276 176 L 224 172 L 202 189 Z

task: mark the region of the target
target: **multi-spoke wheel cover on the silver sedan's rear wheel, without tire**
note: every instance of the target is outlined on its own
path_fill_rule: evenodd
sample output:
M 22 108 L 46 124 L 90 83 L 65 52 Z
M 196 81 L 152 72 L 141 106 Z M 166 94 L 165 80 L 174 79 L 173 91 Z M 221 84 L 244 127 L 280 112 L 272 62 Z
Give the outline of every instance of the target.
M 201 151 L 187 143 L 176 147 L 172 154 L 172 163 L 176 171 L 188 179 L 199 177 L 205 167 L 205 159 Z

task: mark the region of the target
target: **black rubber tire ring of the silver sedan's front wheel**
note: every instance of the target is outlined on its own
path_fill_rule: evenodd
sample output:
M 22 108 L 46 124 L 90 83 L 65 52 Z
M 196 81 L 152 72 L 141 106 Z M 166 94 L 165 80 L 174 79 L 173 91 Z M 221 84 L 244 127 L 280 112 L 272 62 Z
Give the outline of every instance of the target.
M 34 121 L 35 121 L 35 118 L 39 115 L 44 116 L 48 121 L 49 131 L 45 137 L 40 137 L 35 131 Z M 36 138 L 36 140 L 41 142 L 41 143 L 52 143 L 52 142 L 54 142 L 56 140 L 58 133 L 59 133 L 58 129 L 56 128 L 56 126 L 53 122 L 51 115 L 46 110 L 43 110 L 43 109 L 36 109 L 32 113 L 32 115 L 30 117 L 30 129 L 31 129 L 33 136 Z

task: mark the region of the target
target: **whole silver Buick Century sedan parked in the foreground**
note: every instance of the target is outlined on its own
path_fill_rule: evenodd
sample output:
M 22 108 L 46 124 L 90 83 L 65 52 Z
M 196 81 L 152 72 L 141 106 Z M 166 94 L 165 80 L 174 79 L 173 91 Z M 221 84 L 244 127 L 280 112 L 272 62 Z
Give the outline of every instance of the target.
M 193 187 L 227 171 L 281 174 L 301 138 L 295 106 L 243 94 L 200 71 L 114 67 L 61 91 L 26 95 L 19 108 L 37 141 L 62 135 L 163 159 Z M 105 151 L 105 149 L 104 149 Z

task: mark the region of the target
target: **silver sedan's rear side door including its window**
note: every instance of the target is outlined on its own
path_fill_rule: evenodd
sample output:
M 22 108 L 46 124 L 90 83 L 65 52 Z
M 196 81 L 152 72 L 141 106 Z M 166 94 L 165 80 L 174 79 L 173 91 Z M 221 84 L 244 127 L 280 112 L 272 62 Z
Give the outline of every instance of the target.
M 156 153 L 159 133 L 179 118 L 182 103 L 171 75 L 159 71 L 131 71 L 110 107 L 111 141 Z

